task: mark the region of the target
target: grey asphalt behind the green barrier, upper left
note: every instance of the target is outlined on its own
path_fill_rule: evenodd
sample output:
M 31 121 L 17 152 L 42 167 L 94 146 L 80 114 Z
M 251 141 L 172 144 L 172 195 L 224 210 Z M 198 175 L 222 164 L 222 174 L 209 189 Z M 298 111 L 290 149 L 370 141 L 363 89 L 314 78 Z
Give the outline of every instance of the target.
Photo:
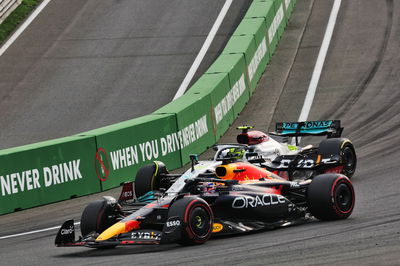
M 170 102 L 225 0 L 52 0 L 0 57 L 0 149 L 149 114 Z M 250 1 L 235 0 L 196 77 Z

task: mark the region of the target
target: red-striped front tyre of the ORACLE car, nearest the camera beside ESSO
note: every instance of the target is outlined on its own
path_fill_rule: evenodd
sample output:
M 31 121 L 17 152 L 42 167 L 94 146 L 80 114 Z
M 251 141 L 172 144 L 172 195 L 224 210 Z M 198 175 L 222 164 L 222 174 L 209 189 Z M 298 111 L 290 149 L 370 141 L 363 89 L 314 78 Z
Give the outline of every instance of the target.
M 179 217 L 179 244 L 199 245 L 205 243 L 211 236 L 213 213 L 208 203 L 198 197 L 183 197 L 175 201 L 168 212 L 169 217 Z

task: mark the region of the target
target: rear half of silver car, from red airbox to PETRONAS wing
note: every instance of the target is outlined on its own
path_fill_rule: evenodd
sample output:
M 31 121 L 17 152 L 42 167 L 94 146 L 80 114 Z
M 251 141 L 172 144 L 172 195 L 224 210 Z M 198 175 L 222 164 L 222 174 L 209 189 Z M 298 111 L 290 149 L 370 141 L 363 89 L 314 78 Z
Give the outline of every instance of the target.
M 249 131 L 251 128 L 238 128 L 242 130 L 237 136 L 238 143 L 255 153 L 251 159 L 264 159 L 264 167 L 285 179 L 307 179 L 322 173 L 340 173 L 351 178 L 356 170 L 356 152 L 349 139 L 341 138 L 340 120 L 277 123 L 276 131 L 269 135 Z M 327 136 L 327 139 L 318 147 L 300 147 L 302 136 Z M 288 143 L 289 137 L 294 138 L 294 145 Z

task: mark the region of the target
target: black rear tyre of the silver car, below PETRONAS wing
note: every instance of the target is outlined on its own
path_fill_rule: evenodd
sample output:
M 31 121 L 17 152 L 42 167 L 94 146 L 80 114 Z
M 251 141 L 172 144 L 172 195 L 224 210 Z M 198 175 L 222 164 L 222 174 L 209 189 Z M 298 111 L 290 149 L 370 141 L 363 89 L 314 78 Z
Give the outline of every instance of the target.
M 318 154 L 322 159 L 337 156 L 343 166 L 342 174 L 351 178 L 357 167 L 357 156 L 353 144 L 346 138 L 331 138 L 321 141 Z

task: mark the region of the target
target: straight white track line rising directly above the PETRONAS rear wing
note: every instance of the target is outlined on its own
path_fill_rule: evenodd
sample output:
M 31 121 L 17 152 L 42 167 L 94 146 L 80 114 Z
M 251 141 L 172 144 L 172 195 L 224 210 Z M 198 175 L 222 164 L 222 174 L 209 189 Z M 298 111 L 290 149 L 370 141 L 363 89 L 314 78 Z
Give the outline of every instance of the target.
M 319 50 L 317 62 L 315 63 L 314 71 L 311 77 L 310 85 L 308 86 L 308 91 L 306 98 L 304 99 L 303 108 L 301 109 L 299 122 L 307 121 L 308 115 L 310 114 L 311 106 L 314 101 L 315 92 L 317 90 L 318 82 L 321 77 L 322 68 L 324 67 L 326 54 L 328 53 L 328 48 L 331 43 L 333 30 L 335 28 L 337 15 L 339 13 L 340 4 L 342 0 L 335 0 L 332 6 L 331 14 L 329 16 L 328 25 L 326 26 L 324 39 Z M 300 141 L 300 138 L 299 138 Z M 295 140 L 292 139 L 292 143 Z

